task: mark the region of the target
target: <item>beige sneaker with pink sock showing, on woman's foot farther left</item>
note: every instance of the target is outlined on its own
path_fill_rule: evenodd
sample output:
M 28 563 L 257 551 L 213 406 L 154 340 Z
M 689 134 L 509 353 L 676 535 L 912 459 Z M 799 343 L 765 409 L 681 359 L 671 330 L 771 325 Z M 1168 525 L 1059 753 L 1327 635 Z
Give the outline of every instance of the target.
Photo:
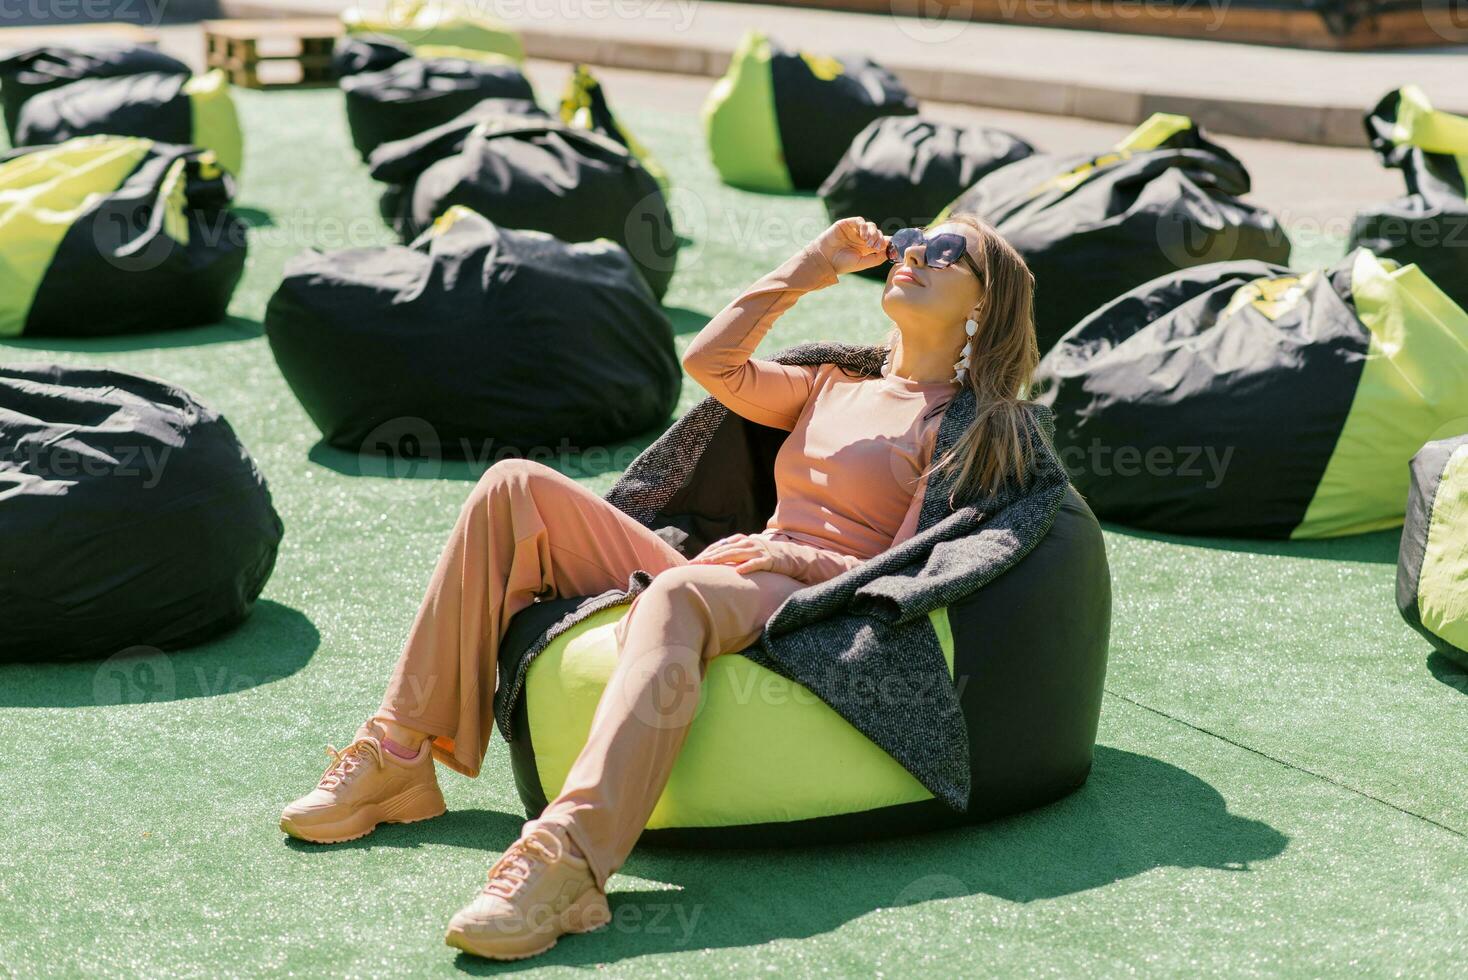
M 367 722 L 346 748 L 327 747 L 332 764 L 316 789 L 280 811 L 280 829 L 313 844 L 355 841 L 379 823 L 414 823 L 445 811 L 433 772 L 433 739 L 413 760 L 382 747 L 382 729 Z

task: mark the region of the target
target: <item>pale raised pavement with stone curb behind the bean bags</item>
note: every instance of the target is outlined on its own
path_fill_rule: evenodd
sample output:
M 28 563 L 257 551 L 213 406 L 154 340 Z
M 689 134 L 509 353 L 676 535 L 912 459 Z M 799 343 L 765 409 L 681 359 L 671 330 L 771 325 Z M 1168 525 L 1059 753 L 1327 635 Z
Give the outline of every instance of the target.
M 1066 21 L 1066 4 L 1042 1 Z M 223 7 L 335 13 L 352 3 L 223 0 Z M 938 4 L 931 19 L 722 0 L 480 0 L 479 9 L 514 23 L 533 56 L 718 75 L 744 29 L 759 26 L 791 47 L 868 53 L 922 97 L 1110 122 L 1182 111 L 1220 132 L 1299 142 L 1359 144 L 1362 110 L 1408 82 L 1443 109 L 1468 111 L 1468 28 L 1452 31 L 1456 47 L 1340 53 L 951 22 L 940 19 Z

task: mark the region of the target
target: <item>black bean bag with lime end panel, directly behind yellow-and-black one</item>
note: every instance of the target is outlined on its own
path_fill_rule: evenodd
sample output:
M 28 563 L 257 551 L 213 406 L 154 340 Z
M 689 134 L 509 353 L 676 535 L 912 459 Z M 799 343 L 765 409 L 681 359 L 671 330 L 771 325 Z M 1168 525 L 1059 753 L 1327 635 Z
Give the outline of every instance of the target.
M 88 78 L 32 95 L 12 131 L 16 147 L 76 136 L 142 136 L 213 150 L 238 179 L 245 145 L 225 72 Z

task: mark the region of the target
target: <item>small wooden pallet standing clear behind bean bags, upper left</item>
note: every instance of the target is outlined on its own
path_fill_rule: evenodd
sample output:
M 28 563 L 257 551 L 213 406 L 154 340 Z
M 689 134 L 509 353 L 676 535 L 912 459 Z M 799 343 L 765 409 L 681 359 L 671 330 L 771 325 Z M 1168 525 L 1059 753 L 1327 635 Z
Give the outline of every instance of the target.
M 223 69 L 232 85 L 282 88 L 332 84 L 332 45 L 342 34 L 342 22 L 336 18 L 204 21 L 200 26 L 204 29 L 206 63 Z M 289 63 L 298 66 L 297 72 L 261 78 L 261 66 Z M 267 75 L 276 72 L 267 69 Z

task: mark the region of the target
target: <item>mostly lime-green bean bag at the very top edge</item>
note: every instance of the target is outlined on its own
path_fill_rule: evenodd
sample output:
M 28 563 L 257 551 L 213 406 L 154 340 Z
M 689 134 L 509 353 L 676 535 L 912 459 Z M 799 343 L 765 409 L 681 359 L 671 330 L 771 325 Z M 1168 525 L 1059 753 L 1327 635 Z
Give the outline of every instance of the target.
M 349 6 L 342 12 L 342 26 L 348 37 L 396 41 L 415 51 L 452 47 L 524 62 L 520 34 L 486 9 L 473 0 L 388 0 L 382 7 Z

